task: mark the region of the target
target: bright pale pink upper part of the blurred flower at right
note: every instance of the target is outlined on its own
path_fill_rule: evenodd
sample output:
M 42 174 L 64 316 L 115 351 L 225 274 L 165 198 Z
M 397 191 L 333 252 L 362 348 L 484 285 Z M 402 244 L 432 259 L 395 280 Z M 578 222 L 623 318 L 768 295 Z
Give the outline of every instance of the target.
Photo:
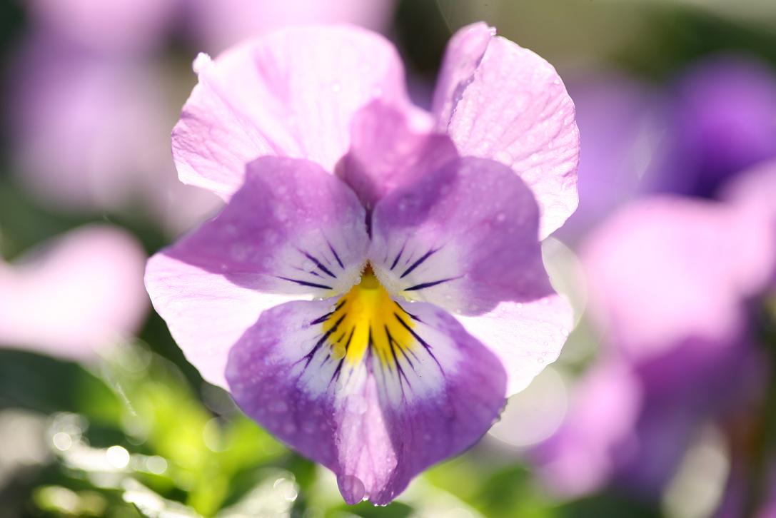
M 591 316 L 613 344 L 639 359 L 678 341 L 736 341 L 744 302 L 773 271 L 773 226 L 735 205 L 667 196 L 616 212 L 581 258 Z

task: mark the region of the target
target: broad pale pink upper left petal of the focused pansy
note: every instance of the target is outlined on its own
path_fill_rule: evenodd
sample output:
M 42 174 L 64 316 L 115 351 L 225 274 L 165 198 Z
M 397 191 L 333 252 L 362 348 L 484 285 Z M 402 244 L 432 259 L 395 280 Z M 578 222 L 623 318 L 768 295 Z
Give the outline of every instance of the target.
M 289 27 L 195 62 L 199 84 L 172 133 L 181 181 L 223 198 L 259 156 L 327 171 L 348 149 L 353 114 L 375 98 L 408 105 L 396 49 L 352 26 Z

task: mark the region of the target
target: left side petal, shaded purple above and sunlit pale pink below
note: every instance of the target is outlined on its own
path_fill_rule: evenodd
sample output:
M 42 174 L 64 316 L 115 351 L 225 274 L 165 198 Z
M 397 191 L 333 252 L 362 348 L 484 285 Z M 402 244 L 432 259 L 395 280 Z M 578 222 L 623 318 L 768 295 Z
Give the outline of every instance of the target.
M 224 385 L 230 347 L 262 311 L 346 291 L 368 246 L 365 211 L 341 180 L 264 157 L 216 218 L 148 261 L 146 287 L 189 361 Z

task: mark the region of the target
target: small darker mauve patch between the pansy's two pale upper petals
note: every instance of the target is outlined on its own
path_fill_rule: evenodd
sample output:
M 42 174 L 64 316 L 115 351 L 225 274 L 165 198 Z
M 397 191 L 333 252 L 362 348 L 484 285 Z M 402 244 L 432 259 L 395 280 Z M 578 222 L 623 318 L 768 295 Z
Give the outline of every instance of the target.
M 351 147 L 338 175 L 371 208 L 393 189 L 458 157 L 448 136 L 415 133 L 405 112 L 372 102 L 353 119 Z

